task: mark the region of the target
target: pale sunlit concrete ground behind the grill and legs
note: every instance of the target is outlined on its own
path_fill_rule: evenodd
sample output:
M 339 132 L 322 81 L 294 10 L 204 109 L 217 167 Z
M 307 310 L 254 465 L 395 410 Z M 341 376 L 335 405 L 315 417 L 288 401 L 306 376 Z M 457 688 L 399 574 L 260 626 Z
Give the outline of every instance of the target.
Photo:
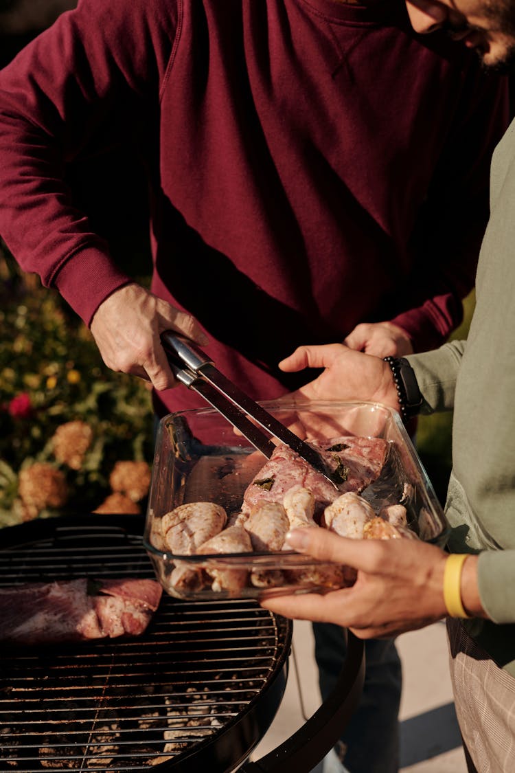
M 254 754 L 258 760 L 290 737 L 303 723 L 299 690 L 307 717 L 320 706 L 310 623 L 293 625 L 293 662 L 286 693 L 268 733 Z M 401 699 L 401 773 L 466 773 L 452 701 L 443 622 L 398 637 L 404 688 Z M 314 771 L 319 773 L 320 766 Z M 299 771 L 308 773 L 308 771 Z

